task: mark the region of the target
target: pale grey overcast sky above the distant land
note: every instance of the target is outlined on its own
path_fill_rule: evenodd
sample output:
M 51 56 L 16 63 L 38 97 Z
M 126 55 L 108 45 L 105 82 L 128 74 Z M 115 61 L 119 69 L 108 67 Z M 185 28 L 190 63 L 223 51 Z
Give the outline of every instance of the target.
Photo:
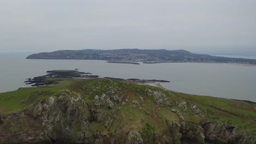
M 256 55 L 256 1 L 0 0 L 0 52 L 126 48 Z

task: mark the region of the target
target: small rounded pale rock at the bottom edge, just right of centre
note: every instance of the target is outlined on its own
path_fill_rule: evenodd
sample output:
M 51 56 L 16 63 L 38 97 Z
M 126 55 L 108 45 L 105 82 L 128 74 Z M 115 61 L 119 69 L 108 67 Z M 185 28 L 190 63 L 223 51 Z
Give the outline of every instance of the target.
M 138 133 L 138 130 L 130 131 L 125 144 L 143 144 L 143 139 L 141 134 Z

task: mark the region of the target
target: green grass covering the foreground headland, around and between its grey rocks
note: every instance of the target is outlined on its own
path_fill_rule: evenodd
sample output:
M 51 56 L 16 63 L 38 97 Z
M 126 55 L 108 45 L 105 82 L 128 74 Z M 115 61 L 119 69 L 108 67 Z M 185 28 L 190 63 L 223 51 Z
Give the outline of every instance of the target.
M 256 104 L 249 104 L 244 101 L 236 101 L 224 98 L 214 98 L 206 96 L 196 96 L 172 91 L 165 91 L 146 85 L 136 85 L 134 83 L 112 81 L 107 79 L 47 79 L 55 81 L 55 84 L 44 87 L 20 88 L 13 92 L 0 93 L 0 115 L 24 109 L 34 103 L 34 101 L 49 97 L 60 89 L 69 89 L 82 94 L 85 101 L 92 101 L 95 95 L 108 93 L 110 89 L 117 89 L 114 94 L 124 94 L 121 103 L 114 103 L 114 111 L 121 121 L 115 119 L 111 128 L 106 129 L 100 123 L 92 122 L 90 129 L 99 133 L 108 134 L 109 131 L 115 131 L 119 127 L 125 130 L 142 130 L 147 127 L 147 123 L 155 131 L 161 131 L 166 128 L 166 119 L 179 121 L 176 113 L 171 109 L 182 111 L 181 107 L 157 106 L 153 98 L 148 97 L 141 91 L 143 89 L 152 89 L 167 95 L 168 100 L 186 101 L 188 111 L 184 113 L 185 121 L 199 123 L 201 118 L 195 115 L 190 109 L 189 104 L 195 103 L 203 111 L 203 115 L 213 121 L 220 121 L 229 124 L 235 124 L 238 130 L 245 130 L 249 133 L 256 131 Z M 143 100 L 141 100 L 143 98 Z M 126 101 L 127 99 L 127 101 Z M 137 100 L 139 105 L 132 103 Z M 123 102 L 125 102 L 123 104 Z M 113 110 L 102 109 L 102 111 L 111 112 Z M 149 127 L 149 128 L 150 128 Z

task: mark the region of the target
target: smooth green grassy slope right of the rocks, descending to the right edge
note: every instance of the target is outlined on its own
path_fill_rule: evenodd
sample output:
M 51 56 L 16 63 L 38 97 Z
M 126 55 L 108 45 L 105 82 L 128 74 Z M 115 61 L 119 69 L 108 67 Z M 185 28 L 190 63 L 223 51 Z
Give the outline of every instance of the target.
M 256 131 L 256 104 L 225 98 L 173 93 L 200 106 L 203 114 L 213 121 L 234 124 L 242 131 Z

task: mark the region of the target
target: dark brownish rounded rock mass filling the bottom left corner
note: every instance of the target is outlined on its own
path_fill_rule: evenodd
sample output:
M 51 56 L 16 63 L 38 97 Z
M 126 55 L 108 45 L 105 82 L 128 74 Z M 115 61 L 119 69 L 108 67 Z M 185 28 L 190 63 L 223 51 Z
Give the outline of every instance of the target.
M 24 112 L 4 115 L 0 123 L 0 143 L 51 143 L 43 125 Z

